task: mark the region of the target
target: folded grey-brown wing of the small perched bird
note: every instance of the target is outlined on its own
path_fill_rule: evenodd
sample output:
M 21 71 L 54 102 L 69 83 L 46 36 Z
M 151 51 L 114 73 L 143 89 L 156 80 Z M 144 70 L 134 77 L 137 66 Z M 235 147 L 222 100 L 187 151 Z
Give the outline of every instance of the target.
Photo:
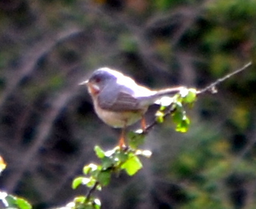
M 105 110 L 142 110 L 139 100 L 131 89 L 118 86 L 118 89 L 105 88 L 98 96 L 98 105 Z M 106 96 L 107 95 L 107 96 Z

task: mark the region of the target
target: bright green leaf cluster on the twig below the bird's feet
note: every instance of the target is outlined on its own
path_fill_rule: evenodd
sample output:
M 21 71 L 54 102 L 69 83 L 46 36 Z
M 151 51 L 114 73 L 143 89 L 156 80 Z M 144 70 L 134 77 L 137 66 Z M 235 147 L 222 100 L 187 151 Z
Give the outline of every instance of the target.
M 103 186 L 108 185 L 112 174 L 119 174 L 121 171 L 125 171 L 129 176 L 133 176 L 139 169 L 142 169 L 139 156 L 151 156 L 151 152 L 148 150 L 122 149 L 119 146 L 108 151 L 104 151 L 100 146 L 95 146 L 94 152 L 100 159 L 100 164 L 90 163 L 84 166 L 83 176 L 76 177 L 73 180 L 72 188 L 74 189 L 79 185 L 85 185 L 90 188 L 86 196 L 75 198 L 74 208 L 99 209 L 100 200 L 91 196 L 91 193 L 94 190 L 101 191 Z

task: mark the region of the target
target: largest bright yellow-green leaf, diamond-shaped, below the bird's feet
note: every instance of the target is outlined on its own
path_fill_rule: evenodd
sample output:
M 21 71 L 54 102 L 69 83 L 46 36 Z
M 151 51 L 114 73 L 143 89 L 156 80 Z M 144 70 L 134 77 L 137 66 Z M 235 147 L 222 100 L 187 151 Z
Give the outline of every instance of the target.
M 125 169 L 129 176 L 133 176 L 139 169 L 142 169 L 142 163 L 140 162 L 139 157 L 132 153 L 128 160 L 122 164 L 121 168 Z

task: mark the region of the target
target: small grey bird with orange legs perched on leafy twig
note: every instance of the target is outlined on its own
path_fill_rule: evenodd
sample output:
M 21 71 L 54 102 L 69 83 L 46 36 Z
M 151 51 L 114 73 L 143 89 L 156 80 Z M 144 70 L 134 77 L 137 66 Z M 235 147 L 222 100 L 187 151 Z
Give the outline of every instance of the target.
M 137 84 L 134 79 L 111 68 L 95 70 L 86 85 L 97 116 L 114 128 L 122 128 L 119 146 L 125 146 L 125 129 L 141 119 L 142 130 L 146 128 L 145 113 L 150 105 L 164 96 L 179 93 L 184 87 L 151 90 Z

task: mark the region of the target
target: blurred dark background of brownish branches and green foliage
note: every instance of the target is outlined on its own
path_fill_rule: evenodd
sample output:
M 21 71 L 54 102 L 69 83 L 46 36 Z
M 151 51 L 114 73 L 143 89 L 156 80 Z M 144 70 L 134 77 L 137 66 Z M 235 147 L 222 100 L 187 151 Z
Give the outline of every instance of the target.
M 72 180 L 120 130 L 77 83 L 109 66 L 151 88 L 204 88 L 255 63 L 255 23 L 255 0 L 1 0 L 1 190 L 34 208 L 86 194 Z M 252 65 L 198 98 L 186 134 L 170 119 L 154 127 L 151 159 L 113 177 L 102 208 L 256 208 L 255 86 Z

